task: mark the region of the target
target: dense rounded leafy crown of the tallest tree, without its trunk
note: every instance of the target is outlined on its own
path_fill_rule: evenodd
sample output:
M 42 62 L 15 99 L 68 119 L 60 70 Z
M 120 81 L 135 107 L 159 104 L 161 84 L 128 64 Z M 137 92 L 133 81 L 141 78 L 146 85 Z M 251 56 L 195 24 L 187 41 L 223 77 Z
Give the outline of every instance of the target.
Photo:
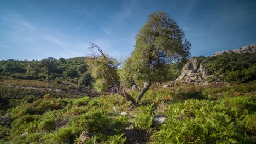
M 135 50 L 121 71 L 121 79 L 165 81 L 167 65 L 189 57 L 191 44 L 185 34 L 165 12 L 149 15 L 147 22 L 136 35 Z M 129 70 L 130 69 L 130 70 Z

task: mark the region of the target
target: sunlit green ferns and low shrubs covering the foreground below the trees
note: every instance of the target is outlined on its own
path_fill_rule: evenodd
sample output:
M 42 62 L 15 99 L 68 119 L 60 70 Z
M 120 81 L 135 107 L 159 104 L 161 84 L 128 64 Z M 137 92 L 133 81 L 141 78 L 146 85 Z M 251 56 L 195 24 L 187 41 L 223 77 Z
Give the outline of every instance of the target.
M 143 134 L 140 137 L 147 143 L 253 143 L 255 85 L 254 81 L 229 87 L 149 89 L 141 106 L 132 111 L 117 94 L 60 98 L 0 87 L 0 143 L 78 143 L 83 131 L 89 134 L 88 143 L 136 142 L 127 131 Z M 129 93 L 136 97 L 139 92 Z M 120 115 L 123 111 L 129 115 Z M 167 122 L 153 128 L 152 118 L 159 114 L 167 116 Z

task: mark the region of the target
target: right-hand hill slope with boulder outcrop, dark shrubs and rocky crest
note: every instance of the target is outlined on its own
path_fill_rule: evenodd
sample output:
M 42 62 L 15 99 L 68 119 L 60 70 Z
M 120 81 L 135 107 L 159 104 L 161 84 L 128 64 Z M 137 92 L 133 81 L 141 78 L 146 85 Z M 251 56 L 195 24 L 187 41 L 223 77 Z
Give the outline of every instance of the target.
M 217 52 L 212 57 L 193 57 L 184 65 L 176 81 L 198 85 L 253 81 L 256 79 L 254 46 L 244 46 L 242 51 Z

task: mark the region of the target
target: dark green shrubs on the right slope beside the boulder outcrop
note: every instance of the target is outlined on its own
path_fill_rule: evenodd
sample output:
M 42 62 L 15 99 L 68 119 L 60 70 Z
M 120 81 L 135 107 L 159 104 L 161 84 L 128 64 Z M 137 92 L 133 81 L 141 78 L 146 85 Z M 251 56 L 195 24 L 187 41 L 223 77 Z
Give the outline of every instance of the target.
M 256 79 L 255 53 L 224 53 L 213 57 L 194 57 L 197 64 L 205 67 L 207 74 L 214 75 L 210 81 L 249 82 Z

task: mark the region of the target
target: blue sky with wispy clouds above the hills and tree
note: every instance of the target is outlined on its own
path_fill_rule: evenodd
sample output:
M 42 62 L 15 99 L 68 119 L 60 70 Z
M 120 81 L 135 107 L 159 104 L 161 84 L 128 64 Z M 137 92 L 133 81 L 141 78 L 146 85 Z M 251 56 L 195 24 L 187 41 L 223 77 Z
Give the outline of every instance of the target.
M 89 42 L 127 57 L 147 16 L 166 11 L 184 30 L 192 56 L 256 43 L 256 1 L 0 1 L 0 60 L 72 58 Z

